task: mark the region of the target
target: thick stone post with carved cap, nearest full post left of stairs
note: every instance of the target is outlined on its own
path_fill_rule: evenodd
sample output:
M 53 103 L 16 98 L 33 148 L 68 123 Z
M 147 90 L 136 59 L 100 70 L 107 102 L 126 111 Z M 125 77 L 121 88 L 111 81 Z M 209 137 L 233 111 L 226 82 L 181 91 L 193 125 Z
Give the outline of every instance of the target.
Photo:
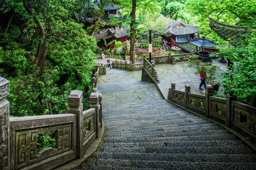
M 77 158 L 84 156 L 83 148 L 83 92 L 80 90 L 73 90 L 68 95 L 68 113 L 76 114 L 77 125 Z

